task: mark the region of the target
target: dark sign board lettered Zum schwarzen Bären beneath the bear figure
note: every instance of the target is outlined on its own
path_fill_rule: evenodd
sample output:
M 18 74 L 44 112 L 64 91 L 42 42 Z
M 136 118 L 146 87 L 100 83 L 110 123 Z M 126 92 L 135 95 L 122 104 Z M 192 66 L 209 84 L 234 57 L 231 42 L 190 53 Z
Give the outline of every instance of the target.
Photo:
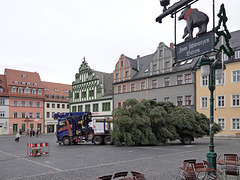
M 210 32 L 200 38 L 178 44 L 176 46 L 177 60 L 189 59 L 210 52 L 213 48 L 213 34 Z

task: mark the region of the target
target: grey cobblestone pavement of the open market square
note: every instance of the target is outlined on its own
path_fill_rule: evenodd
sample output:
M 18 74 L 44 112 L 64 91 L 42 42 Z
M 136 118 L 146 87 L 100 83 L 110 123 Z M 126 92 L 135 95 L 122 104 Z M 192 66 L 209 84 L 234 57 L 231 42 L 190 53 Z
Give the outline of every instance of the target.
M 147 180 L 176 179 L 184 159 L 206 159 L 209 138 L 196 139 L 191 145 L 179 141 L 165 146 L 115 147 L 79 144 L 60 146 L 53 134 L 40 137 L 0 136 L 0 179 L 22 180 L 96 180 L 120 171 L 143 173 Z M 216 137 L 215 152 L 240 155 L 240 139 Z M 49 155 L 27 156 L 27 143 L 48 142 Z

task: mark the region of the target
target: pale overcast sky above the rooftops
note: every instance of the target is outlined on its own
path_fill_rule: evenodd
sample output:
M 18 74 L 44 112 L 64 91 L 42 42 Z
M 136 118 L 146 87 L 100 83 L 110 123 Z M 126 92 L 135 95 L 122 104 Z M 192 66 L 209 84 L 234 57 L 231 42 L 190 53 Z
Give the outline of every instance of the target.
M 216 14 L 222 3 L 229 31 L 240 30 L 240 0 L 215 0 Z M 209 16 L 208 30 L 212 4 L 192 5 Z M 71 84 L 84 56 L 92 69 L 111 73 L 121 54 L 135 59 L 174 41 L 174 19 L 156 23 L 161 13 L 159 0 L 0 0 L 0 74 L 36 71 L 43 81 Z M 177 43 L 185 25 L 177 21 Z

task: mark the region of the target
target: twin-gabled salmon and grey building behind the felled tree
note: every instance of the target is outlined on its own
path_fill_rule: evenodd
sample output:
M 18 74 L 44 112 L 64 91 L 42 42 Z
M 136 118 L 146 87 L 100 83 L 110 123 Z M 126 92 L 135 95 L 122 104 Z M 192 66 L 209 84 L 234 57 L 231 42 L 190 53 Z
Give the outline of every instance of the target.
M 177 62 L 170 46 L 160 43 L 155 53 L 137 59 L 120 56 L 114 70 L 114 108 L 135 98 L 171 101 L 195 110 L 197 58 Z

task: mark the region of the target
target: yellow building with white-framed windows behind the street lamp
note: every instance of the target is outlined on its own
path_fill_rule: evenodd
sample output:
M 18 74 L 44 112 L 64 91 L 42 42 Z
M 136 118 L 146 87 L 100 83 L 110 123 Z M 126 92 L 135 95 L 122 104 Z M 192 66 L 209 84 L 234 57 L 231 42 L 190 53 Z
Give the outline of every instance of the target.
M 214 121 L 222 126 L 219 135 L 235 136 L 240 134 L 240 31 L 231 33 L 230 46 L 235 51 L 231 58 L 224 54 L 226 69 L 223 78 L 216 81 L 214 92 Z M 196 110 L 210 116 L 210 91 L 208 77 L 196 72 Z

